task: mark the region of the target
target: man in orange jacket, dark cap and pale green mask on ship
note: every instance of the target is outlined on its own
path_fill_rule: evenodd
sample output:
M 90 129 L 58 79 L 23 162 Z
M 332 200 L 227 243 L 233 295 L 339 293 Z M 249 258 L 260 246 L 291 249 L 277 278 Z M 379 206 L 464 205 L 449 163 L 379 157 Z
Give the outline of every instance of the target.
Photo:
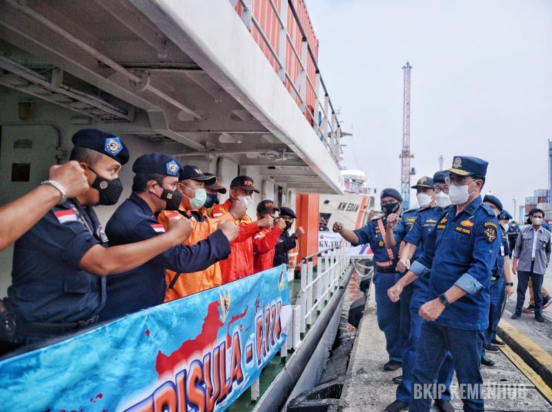
M 207 239 L 211 233 L 215 233 L 221 220 L 234 220 L 230 212 L 226 212 L 216 219 L 207 216 L 205 207 L 207 199 L 206 186 L 216 182 L 216 176 L 203 173 L 197 166 L 184 166 L 182 168 L 179 175 L 178 190 L 183 196 L 178 213 L 190 219 L 192 224 L 192 233 L 182 243 L 184 246 L 197 244 L 197 242 Z M 238 215 L 239 210 L 235 209 L 237 208 L 233 208 L 233 213 Z M 175 213 L 172 210 L 163 210 L 159 213 L 157 220 L 164 228 L 168 228 L 169 218 Z M 244 213 L 245 210 L 242 211 L 242 215 Z M 221 284 L 219 262 L 215 262 L 203 271 L 194 273 L 177 273 L 167 269 L 166 284 L 165 302 L 219 286 Z

